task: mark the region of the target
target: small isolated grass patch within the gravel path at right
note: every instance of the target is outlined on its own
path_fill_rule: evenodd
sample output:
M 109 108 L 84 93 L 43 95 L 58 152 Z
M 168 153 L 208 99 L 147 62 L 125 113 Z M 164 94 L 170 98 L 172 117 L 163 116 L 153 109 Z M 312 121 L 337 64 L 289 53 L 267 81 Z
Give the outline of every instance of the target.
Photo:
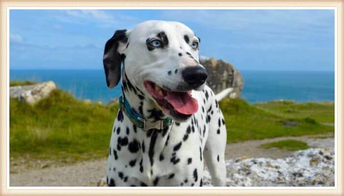
M 281 140 L 277 142 L 269 142 L 265 144 L 261 144 L 260 147 L 262 148 L 280 148 L 286 149 L 289 151 L 296 151 L 296 150 L 303 150 L 309 148 L 307 143 L 299 141 L 299 140 Z

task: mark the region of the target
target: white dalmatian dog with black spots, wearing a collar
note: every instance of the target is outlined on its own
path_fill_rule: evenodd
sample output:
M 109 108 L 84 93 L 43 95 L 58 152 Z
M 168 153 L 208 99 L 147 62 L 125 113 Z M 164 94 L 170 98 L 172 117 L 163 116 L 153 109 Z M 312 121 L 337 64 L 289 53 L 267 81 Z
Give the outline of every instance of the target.
M 226 126 L 199 49 L 188 26 L 167 21 L 117 30 L 107 41 L 108 87 L 122 75 L 108 186 L 202 186 L 203 161 L 214 186 L 226 186 Z

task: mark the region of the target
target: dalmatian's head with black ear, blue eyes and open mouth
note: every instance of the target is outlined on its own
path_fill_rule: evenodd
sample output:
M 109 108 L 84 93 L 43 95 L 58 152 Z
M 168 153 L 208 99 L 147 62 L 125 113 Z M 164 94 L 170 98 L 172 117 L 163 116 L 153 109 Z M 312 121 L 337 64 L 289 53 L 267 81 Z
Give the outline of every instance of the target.
M 121 75 L 172 119 L 183 121 L 198 110 L 192 90 L 202 90 L 207 78 L 199 59 L 200 38 L 177 22 L 147 21 L 134 29 L 117 30 L 105 45 L 103 63 L 109 88 Z

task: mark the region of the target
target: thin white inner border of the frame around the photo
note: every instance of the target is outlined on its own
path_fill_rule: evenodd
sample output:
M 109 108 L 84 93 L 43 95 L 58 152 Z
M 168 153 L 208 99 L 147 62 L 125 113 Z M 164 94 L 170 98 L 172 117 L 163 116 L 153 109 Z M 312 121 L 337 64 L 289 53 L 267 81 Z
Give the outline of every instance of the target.
M 334 187 L 10 187 L 9 186 L 9 11 L 14 9 L 208 9 L 208 10 L 334 10 L 335 11 L 335 186 Z M 7 7 L 7 189 L 9 190 L 163 190 L 163 189 L 177 189 L 177 190 L 193 190 L 193 189 L 205 189 L 205 190 L 337 190 L 337 172 L 338 172 L 338 151 L 337 151 L 337 129 L 338 129 L 338 110 L 337 110 L 337 7 Z

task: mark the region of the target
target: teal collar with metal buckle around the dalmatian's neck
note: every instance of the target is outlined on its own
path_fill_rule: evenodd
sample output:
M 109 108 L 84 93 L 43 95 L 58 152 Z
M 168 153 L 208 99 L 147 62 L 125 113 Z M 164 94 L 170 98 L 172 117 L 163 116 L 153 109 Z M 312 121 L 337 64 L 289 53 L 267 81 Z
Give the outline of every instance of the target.
M 145 131 L 153 128 L 161 130 L 171 125 L 173 122 L 172 119 L 170 119 L 169 117 L 155 122 L 146 121 L 143 118 L 143 116 L 134 112 L 133 108 L 130 107 L 128 100 L 123 96 L 119 97 L 119 108 L 122 111 L 124 111 L 124 113 L 127 115 L 127 117 L 130 119 L 132 123 L 134 123 L 137 127 L 142 128 Z

